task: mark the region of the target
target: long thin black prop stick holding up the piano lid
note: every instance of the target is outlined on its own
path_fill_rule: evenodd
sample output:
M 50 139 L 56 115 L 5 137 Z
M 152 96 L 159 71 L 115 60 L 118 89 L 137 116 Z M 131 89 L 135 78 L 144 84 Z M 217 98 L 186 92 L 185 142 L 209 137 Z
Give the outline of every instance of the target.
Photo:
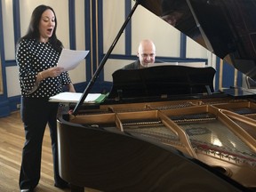
M 137 6 L 138 6 L 138 2 L 135 1 L 135 4 L 132 7 L 132 11 L 129 13 L 128 17 L 126 18 L 126 20 L 124 21 L 124 24 L 122 26 L 122 28 L 120 28 L 113 44 L 111 44 L 108 52 L 106 53 L 106 55 L 104 56 L 104 58 L 100 61 L 100 65 L 99 67 L 96 69 L 94 75 L 92 76 L 91 81 L 89 82 L 89 84 L 87 84 L 83 95 L 81 96 L 80 100 L 76 103 L 76 107 L 73 110 L 73 114 L 74 116 L 76 116 L 77 114 L 77 110 L 78 108 L 80 108 L 80 106 L 84 103 L 85 98 L 87 97 L 87 95 L 89 94 L 89 92 L 92 90 L 92 85 L 95 83 L 96 79 L 98 78 L 98 76 L 100 75 L 100 71 L 101 69 L 104 67 L 106 61 L 108 60 L 108 56 L 110 55 L 110 53 L 113 51 L 114 47 L 116 46 L 116 43 L 118 41 L 118 39 L 120 38 L 120 36 L 124 33 L 124 28 L 126 27 L 126 25 L 128 24 L 128 22 L 131 20 L 132 18 L 132 14 L 133 12 L 135 12 Z

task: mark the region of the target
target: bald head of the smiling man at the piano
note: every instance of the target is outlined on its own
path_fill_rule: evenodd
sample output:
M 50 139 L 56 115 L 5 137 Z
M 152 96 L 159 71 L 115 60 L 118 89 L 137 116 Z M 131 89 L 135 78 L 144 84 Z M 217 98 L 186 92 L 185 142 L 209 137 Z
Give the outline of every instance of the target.
M 137 56 L 140 59 L 140 67 L 147 68 L 148 64 L 155 62 L 156 46 L 148 39 L 144 39 L 140 42 Z

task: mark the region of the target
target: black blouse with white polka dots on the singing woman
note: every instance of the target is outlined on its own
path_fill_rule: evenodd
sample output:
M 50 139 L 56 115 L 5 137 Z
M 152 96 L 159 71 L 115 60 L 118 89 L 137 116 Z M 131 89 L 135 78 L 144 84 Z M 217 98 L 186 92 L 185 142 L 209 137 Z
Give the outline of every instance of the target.
M 23 39 L 18 45 L 16 61 L 19 67 L 21 95 L 31 98 L 49 98 L 63 92 L 63 86 L 70 84 L 68 72 L 60 76 L 47 77 L 36 84 L 40 71 L 57 66 L 60 53 L 50 43 L 37 42 L 36 39 Z

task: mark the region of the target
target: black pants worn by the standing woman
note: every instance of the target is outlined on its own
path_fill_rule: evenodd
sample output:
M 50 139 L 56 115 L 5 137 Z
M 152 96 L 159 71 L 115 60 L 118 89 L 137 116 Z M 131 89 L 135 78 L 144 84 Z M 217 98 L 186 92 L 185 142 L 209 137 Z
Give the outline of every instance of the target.
M 55 184 L 61 180 L 58 166 L 57 112 L 58 103 L 44 99 L 21 98 L 20 114 L 25 128 L 26 141 L 22 150 L 20 188 L 36 188 L 40 180 L 42 144 L 46 124 L 52 139 L 53 171 Z

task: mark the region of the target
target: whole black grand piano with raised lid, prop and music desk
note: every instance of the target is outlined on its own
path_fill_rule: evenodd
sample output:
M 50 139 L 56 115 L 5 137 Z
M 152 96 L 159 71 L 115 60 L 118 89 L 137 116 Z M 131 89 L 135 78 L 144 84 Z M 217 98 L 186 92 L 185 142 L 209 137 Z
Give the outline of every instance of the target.
M 255 0 L 137 0 L 256 80 Z M 215 69 L 116 70 L 108 98 L 60 107 L 60 176 L 71 191 L 256 191 L 255 91 L 214 91 Z M 125 77 L 125 78 L 124 78 Z

